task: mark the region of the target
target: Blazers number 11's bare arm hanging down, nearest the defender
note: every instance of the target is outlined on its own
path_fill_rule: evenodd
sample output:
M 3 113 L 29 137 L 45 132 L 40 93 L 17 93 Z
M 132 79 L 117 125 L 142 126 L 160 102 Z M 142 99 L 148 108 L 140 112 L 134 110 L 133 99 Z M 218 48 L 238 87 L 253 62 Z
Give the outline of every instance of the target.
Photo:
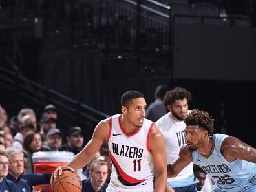
M 164 136 L 155 125 L 153 126 L 149 136 L 149 149 L 151 150 L 155 165 L 155 192 L 164 192 L 167 184 L 167 160 Z

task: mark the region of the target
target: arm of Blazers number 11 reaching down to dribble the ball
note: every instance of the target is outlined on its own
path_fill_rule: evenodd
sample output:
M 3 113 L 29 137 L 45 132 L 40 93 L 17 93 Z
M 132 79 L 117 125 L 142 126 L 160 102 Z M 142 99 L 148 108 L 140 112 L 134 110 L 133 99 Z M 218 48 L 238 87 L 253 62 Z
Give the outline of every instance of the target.
M 109 123 L 108 119 L 102 120 L 96 128 L 92 135 L 91 140 L 85 145 L 82 151 L 74 156 L 74 158 L 64 165 L 65 169 L 70 169 L 71 171 L 76 171 L 87 165 L 91 160 L 92 156 L 100 149 L 103 141 L 107 138 L 109 134 Z M 51 182 L 57 178 L 58 175 L 62 174 L 63 167 L 58 167 L 54 173 L 52 173 Z

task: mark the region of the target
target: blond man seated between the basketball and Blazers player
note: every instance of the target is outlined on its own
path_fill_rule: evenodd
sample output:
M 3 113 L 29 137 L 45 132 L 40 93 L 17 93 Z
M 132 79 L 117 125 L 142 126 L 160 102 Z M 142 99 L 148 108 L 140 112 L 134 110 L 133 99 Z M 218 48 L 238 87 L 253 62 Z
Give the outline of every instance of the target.
M 94 160 L 90 166 L 89 178 L 82 181 L 82 192 L 105 192 L 108 184 L 108 162 L 103 156 Z

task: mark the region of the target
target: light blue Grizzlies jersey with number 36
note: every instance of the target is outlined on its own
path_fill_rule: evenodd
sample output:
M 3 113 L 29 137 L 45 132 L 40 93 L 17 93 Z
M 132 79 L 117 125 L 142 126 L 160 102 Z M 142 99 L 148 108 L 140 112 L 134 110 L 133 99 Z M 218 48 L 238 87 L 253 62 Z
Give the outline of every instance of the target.
M 197 150 L 193 151 L 193 163 L 213 178 L 213 191 L 256 191 L 256 164 L 239 159 L 228 162 L 222 156 L 221 145 L 227 137 L 225 134 L 214 134 L 211 153 L 206 157 L 200 155 Z

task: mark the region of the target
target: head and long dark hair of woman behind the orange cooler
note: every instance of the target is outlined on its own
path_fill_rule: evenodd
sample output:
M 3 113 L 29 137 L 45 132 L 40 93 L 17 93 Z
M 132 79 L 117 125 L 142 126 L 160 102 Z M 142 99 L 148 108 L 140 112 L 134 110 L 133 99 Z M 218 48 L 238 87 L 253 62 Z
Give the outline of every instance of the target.
M 27 156 L 27 164 L 25 165 L 27 172 L 33 172 L 32 155 L 37 151 L 43 151 L 42 145 L 43 145 L 43 136 L 40 133 L 36 132 L 36 133 L 28 134 L 28 136 L 26 136 L 23 143 L 23 148 L 24 148 L 23 152 Z

